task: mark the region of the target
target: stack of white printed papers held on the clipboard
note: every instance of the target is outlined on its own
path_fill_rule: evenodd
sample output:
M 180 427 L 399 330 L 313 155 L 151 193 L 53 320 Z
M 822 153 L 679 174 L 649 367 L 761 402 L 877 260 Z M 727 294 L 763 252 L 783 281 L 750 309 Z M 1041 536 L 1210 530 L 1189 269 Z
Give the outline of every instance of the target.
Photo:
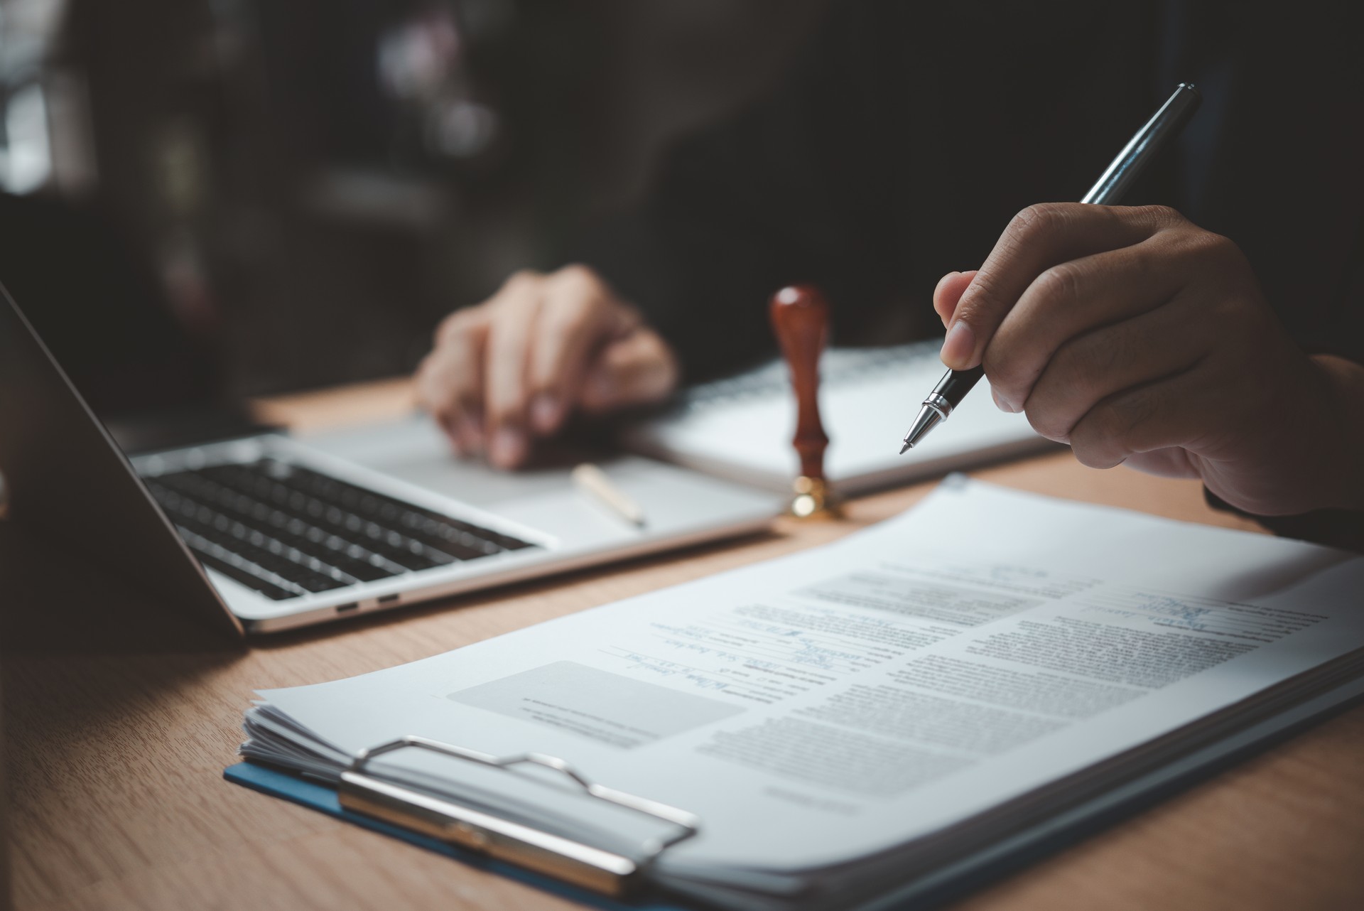
M 672 885 L 780 892 L 892 848 L 903 870 L 949 826 L 1144 768 L 1138 747 L 1364 646 L 1361 592 L 1341 551 L 949 479 L 835 544 L 266 690 L 256 715 L 331 764 L 405 734 L 562 757 L 701 817 L 660 862 Z M 391 761 L 563 832 L 629 829 L 539 776 L 458 766 Z

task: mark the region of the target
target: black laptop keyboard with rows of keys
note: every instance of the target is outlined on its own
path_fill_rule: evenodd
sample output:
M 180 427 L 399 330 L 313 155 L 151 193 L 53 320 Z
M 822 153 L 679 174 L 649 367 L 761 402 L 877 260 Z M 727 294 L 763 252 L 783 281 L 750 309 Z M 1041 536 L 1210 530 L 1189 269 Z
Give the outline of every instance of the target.
M 143 483 L 205 566 L 277 601 L 533 547 L 270 458 Z

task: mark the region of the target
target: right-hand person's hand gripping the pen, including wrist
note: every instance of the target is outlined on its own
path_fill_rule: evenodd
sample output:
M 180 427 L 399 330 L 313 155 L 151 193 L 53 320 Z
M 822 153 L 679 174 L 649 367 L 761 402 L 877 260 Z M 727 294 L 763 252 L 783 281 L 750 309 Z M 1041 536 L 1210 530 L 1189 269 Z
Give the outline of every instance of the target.
M 933 305 L 943 363 L 1093 468 L 1199 477 L 1260 516 L 1364 506 L 1360 368 L 1308 357 L 1241 251 L 1165 207 L 1031 206 Z

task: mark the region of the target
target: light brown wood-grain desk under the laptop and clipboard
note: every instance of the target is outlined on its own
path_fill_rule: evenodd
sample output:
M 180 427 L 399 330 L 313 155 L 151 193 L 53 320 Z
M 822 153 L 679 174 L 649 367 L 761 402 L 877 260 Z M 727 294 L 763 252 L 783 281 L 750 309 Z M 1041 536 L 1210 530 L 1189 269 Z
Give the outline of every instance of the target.
M 318 425 L 382 415 L 406 401 L 406 387 L 391 383 L 280 400 L 269 413 Z M 1065 453 L 975 475 L 1020 490 L 1249 526 L 1209 510 L 1198 484 L 1090 471 Z M 173 623 L 130 633 L 119 621 L 138 612 L 136 592 L 98 573 L 55 573 L 49 551 L 0 524 L 0 610 L 42 616 L 55 604 L 85 603 L 105 611 L 79 630 L 56 622 L 46 645 L 26 646 L 4 663 L 14 906 L 576 907 L 225 783 L 221 772 L 241 739 L 252 687 L 374 671 L 812 547 L 892 516 L 929 488 L 857 501 L 842 525 L 783 521 L 767 537 L 262 638 L 247 652 Z M 958 907 L 1364 908 L 1364 706 Z

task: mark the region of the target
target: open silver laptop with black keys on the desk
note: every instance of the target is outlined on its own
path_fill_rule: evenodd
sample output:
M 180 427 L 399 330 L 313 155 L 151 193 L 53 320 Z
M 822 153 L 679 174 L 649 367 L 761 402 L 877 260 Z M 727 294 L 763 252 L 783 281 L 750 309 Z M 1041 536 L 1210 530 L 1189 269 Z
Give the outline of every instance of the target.
M 0 296 L 8 520 L 239 636 L 756 532 L 780 507 L 648 458 L 602 462 L 642 509 L 640 526 L 577 490 L 569 465 L 505 475 L 456 460 L 420 415 L 124 453 L 3 285 Z

